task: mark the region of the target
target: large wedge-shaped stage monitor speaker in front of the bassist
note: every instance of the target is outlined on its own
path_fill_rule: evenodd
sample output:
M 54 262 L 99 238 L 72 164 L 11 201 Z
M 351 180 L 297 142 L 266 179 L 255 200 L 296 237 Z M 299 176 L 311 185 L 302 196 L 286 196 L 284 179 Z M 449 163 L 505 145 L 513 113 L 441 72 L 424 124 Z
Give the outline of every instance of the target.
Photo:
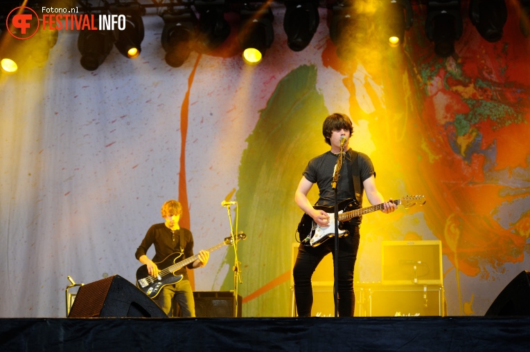
M 68 317 L 168 316 L 142 290 L 114 275 L 80 286 Z

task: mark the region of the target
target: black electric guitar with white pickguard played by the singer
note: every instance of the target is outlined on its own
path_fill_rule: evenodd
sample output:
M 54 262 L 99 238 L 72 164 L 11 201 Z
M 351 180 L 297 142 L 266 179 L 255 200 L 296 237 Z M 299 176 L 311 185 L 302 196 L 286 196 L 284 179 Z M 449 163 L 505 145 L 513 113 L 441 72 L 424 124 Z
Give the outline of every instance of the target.
M 392 201 L 396 205 L 403 205 L 405 208 L 412 207 L 412 205 L 423 205 L 425 204 L 425 196 L 405 196 L 403 198 Z M 342 223 L 351 220 L 357 216 L 362 216 L 363 214 L 369 214 L 371 212 L 376 212 L 385 208 L 383 203 L 378 205 L 372 205 L 371 207 L 359 207 L 359 203 L 355 199 L 346 199 L 338 205 L 338 220 L 339 220 L 339 237 L 344 237 L 348 235 L 348 231 L 342 229 Z M 316 210 L 324 210 L 328 213 L 329 216 L 329 225 L 328 226 L 319 226 L 311 216 L 308 214 L 303 214 L 302 219 L 298 225 L 298 232 L 300 234 L 300 239 L 302 243 L 311 247 L 319 246 L 326 239 L 335 236 L 335 207 L 326 207 L 322 205 L 316 205 Z

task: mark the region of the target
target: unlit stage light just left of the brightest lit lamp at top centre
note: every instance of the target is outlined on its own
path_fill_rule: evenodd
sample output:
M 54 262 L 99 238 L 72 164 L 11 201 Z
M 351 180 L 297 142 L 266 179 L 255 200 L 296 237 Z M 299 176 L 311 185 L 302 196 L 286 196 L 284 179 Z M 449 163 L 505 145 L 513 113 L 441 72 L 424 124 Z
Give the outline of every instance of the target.
M 196 47 L 199 53 L 209 53 L 230 35 L 230 25 L 224 19 L 225 0 L 198 0 L 199 28 Z

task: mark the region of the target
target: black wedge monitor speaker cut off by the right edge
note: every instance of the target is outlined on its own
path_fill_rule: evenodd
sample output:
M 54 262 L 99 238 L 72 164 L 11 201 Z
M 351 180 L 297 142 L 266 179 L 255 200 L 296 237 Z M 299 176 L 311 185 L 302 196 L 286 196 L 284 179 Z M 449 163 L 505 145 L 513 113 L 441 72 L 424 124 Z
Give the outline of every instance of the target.
M 530 315 L 530 272 L 515 277 L 491 304 L 485 316 L 509 317 Z

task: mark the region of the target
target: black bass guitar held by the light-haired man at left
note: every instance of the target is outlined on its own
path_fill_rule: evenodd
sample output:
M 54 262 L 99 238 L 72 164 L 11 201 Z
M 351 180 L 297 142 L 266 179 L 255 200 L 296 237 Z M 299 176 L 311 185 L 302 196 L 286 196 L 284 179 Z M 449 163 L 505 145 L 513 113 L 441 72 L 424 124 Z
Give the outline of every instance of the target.
M 247 239 L 247 235 L 243 233 L 236 235 L 236 242 L 242 239 Z M 213 246 L 212 248 L 208 248 L 206 251 L 213 252 L 214 250 L 218 250 L 219 248 L 227 245 L 233 245 L 232 237 L 225 238 L 224 241 Z M 169 254 L 168 257 L 166 257 L 166 259 L 163 261 L 156 263 L 159 268 L 159 272 L 156 277 L 149 275 L 147 265 L 144 264 L 138 268 L 138 270 L 136 270 L 136 286 L 138 286 L 138 288 L 140 288 L 145 295 L 148 295 L 150 298 L 154 298 L 157 297 L 157 295 L 160 293 L 160 290 L 164 286 L 177 284 L 177 282 L 182 280 L 184 275 L 175 275 L 175 271 L 179 270 L 180 268 L 184 268 L 184 266 L 187 266 L 189 263 L 193 263 L 199 259 L 199 254 L 195 254 L 193 257 L 189 257 L 183 261 L 177 262 L 181 256 L 181 252 L 175 252 L 173 254 Z

